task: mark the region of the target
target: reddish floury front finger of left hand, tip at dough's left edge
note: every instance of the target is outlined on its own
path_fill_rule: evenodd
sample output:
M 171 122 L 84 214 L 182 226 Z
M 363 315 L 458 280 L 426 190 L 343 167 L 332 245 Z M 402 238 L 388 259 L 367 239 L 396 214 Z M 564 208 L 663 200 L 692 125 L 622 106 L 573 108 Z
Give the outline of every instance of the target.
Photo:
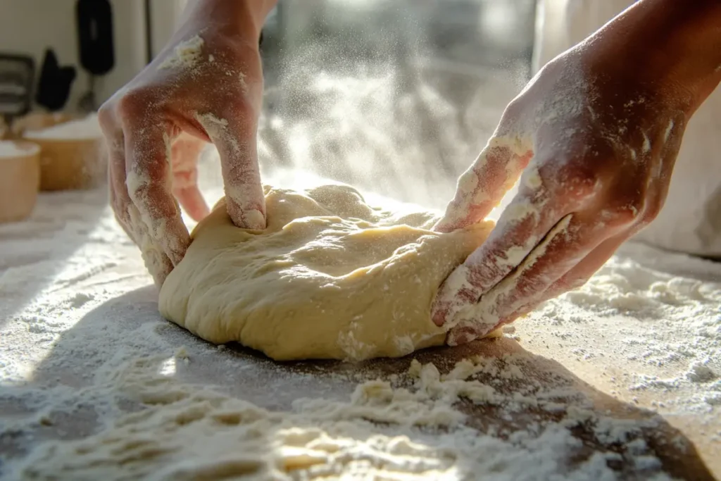
M 124 128 L 125 183 L 149 239 L 141 250 L 157 249 L 172 265 L 185 255 L 190 234 L 171 193 L 169 125 L 147 122 Z M 132 210 L 131 210 L 132 213 Z

